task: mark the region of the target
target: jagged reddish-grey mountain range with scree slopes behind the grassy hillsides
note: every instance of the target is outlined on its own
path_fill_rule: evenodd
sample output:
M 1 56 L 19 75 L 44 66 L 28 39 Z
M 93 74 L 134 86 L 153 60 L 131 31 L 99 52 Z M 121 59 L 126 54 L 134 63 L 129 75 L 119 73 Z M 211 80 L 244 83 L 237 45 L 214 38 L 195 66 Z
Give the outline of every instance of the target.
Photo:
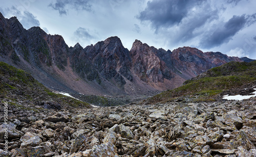
M 25 30 L 16 17 L 0 13 L 0 61 L 24 69 L 45 86 L 93 95 L 152 95 L 179 87 L 206 70 L 230 61 L 228 57 L 192 47 L 173 51 L 135 40 L 131 50 L 118 37 L 85 48 L 68 47 L 60 35 L 39 27 Z

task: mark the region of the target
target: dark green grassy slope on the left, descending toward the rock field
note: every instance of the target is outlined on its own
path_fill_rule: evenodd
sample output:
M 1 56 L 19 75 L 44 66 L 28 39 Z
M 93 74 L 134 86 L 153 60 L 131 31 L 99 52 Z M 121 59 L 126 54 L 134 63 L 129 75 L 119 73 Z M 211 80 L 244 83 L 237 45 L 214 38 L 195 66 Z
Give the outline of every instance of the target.
M 68 108 L 91 107 L 87 102 L 51 92 L 29 73 L 4 62 L 0 62 L 0 96 L 11 100 L 13 104 L 20 100 L 31 104 L 36 104 L 38 101 L 52 101 Z

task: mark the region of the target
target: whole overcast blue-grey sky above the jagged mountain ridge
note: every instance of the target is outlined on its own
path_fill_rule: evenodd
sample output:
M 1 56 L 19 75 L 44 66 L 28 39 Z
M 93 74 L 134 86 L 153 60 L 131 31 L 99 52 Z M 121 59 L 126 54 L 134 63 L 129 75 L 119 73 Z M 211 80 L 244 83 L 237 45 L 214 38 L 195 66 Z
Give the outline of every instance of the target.
M 183 46 L 256 59 L 255 0 L 0 0 L 6 18 L 82 47 L 118 36 L 165 50 Z

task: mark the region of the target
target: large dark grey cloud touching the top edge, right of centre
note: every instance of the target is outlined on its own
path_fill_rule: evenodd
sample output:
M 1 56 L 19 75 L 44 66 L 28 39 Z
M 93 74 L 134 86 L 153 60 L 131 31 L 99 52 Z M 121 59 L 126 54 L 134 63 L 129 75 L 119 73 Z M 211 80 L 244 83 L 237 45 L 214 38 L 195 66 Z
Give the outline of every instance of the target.
M 161 27 L 180 23 L 189 10 L 200 3 L 200 0 L 153 0 L 147 2 L 145 10 L 140 12 L 137 18 L 150 21 L 152 28 L 157 32 Z

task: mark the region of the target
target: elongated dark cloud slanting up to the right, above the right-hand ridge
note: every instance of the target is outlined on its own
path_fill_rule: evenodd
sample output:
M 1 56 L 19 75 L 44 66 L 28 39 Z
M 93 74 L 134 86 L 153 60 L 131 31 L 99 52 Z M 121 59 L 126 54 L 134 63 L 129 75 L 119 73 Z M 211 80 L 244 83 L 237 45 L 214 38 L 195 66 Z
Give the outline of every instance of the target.
M 204 48 L 212 48 L 227 43 L 236 33 L 244 28 L 245 24 L 245 15 L 234 15 L 223 25 L 223 27 L 218 27 L 214 31 L 210 30 L 208 34 L 204 35 L 200 44 Z

